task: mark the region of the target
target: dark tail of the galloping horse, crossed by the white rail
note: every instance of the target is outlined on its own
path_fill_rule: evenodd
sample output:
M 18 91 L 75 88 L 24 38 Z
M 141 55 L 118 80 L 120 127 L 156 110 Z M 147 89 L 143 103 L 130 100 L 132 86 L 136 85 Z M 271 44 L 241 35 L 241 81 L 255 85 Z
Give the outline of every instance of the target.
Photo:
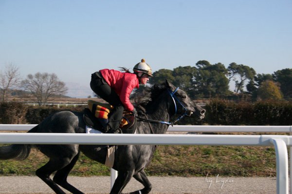
M 36 133 L 38 125 L 28 131 Z M 12 144 L 0 147 L 0 159 L 26 159 L 33 145 L 30 144 Z

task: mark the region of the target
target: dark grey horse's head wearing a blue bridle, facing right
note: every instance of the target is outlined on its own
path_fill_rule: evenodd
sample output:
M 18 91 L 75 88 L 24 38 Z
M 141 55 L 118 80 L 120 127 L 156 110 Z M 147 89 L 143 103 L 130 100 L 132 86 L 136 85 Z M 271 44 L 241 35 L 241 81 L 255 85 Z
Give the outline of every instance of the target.
M 167 80 L 165 81 L 169 96 L 172 98 L 169 106 L 174 114 L 191 116 L 195 112 L 195 107 L 188 95 L 179 87 L 173 86 Z

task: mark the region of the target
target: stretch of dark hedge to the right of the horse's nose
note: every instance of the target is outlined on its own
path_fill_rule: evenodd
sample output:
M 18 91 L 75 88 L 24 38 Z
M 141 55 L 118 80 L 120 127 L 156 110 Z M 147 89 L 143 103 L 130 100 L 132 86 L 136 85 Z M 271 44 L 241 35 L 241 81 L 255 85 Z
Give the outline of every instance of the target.
M 211 100 L 206 111 L 210 125 L 292 125 L 292 103 L 285 101 Z

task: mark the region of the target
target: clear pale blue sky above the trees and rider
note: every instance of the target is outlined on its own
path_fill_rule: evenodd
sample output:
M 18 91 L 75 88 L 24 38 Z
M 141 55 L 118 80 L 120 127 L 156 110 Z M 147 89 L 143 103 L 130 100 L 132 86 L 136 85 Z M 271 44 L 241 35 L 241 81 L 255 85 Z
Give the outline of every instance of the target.
M 292 0 L 0 0 L 0 70 L 55 73 L 92 96 L 91 73 L 232 62 L 292 68 Z

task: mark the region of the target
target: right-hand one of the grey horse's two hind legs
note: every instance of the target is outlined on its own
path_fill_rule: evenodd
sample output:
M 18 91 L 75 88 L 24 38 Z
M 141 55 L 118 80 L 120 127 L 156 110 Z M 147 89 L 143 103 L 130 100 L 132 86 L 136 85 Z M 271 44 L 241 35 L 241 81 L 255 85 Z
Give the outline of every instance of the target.
M 70 171 L 72 170 L 72 168 L 74 167 L 77 159 L 79 158 L 79 154 L 80 154 L 80 152 L 78 152 L 78 154 L 72 159 L 70 164 L 68 164 L 64 168 L 58 170 L 53 178 L 55 183 L 57 183 L 58 185 L 60 185 L 64 189 L 67 189 L 68 191 L 70 191 L 73 194 L 83 194 L 81 191 L 79 191 L 78 189 L 76 189 L 75 187 L 73 187 L 71 184 L 69 184 L 67 182 L 67 177 L 68 177 Z

